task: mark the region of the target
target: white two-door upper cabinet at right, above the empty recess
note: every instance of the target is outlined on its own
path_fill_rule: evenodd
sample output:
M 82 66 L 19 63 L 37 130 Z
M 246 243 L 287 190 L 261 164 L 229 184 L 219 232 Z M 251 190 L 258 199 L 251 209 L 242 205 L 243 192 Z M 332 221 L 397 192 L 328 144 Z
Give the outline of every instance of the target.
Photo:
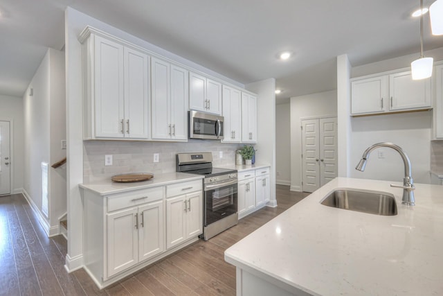
M 432 107 L 431 79 L 413 80 L 410 71 L 392 71 L 351 80 L 351 114 L 380 114 Z

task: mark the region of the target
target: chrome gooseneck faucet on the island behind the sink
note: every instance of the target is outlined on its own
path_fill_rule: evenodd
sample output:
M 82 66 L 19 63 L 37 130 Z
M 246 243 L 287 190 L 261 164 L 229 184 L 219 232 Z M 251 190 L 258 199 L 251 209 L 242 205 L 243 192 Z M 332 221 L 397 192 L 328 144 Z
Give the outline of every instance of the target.
M 414 198 L 414 180 L 411 174 L 410 169 L 410 161 L 408 155 L 404 152 L 403 149 L 401 149 L 399 146 L 393 144 L 393 143 L 376 143 L 372 146 L 370 146 L 368 149 L 363 152 L 363 155 L 361 156 L 359 164 L 355 167 L 358 171 L 365 171 L 366 162 L 368 161 L 369 154 L 372 152 L 372 150 L 380 147 L 389 147 L 394 150 L 396 150 L 400 155 L 401 159 L 403 159 L 404 162 L 404 179 L 403 179 L 403 186 L 390 184 L 391 187 L 397 187 L 397 188 L 403 188 L 403 198 L 401 198 L 401 204 L 407 204 L 410 206 L 415 205 L 415 198 Z

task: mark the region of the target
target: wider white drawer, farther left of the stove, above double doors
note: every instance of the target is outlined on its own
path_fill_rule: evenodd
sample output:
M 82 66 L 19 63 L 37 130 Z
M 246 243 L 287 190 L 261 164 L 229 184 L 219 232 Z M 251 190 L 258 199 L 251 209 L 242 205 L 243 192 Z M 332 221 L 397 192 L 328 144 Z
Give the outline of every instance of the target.
M 146 202 L 153 202 L 154 200 L 161 200 L 164 196 L 164 186 L 112 195 L 108 197 L 108 211 L 115 211 Z

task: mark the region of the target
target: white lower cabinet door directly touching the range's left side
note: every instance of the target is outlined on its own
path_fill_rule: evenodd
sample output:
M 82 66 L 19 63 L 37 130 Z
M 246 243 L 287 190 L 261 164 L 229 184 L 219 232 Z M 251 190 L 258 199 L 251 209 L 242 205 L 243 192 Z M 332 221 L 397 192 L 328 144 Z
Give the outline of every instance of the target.
M 186 202 L 186 238 L 191 238 L 203 233 L 203 193 L 186 195 Z

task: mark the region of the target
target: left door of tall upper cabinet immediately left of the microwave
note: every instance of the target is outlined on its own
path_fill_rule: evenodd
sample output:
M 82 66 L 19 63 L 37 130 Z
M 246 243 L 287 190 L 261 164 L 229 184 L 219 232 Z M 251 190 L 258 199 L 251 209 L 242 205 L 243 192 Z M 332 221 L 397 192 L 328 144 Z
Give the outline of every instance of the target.
M 152 58 L 151 68 L 152 139 L 170 139 L 170 64 Z

